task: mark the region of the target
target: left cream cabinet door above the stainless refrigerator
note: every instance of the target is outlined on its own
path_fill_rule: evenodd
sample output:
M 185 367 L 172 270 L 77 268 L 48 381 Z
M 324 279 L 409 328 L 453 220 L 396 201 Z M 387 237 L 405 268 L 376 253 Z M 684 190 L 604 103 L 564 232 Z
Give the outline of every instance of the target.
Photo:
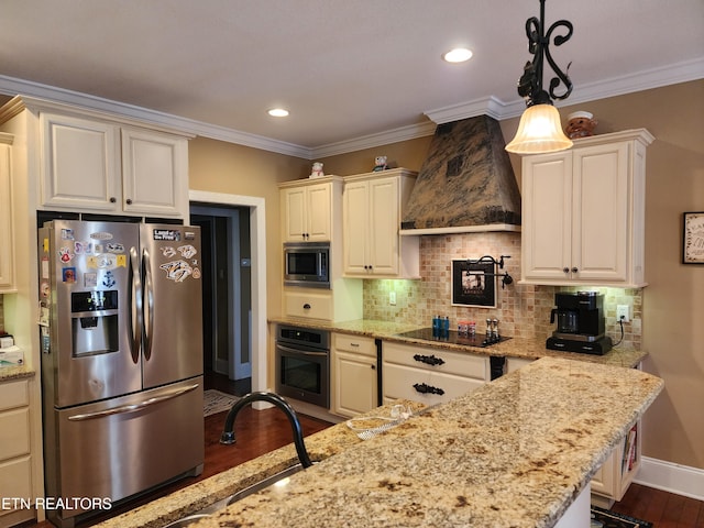
M 111 123 L 42 112 L 41 193 L 44 206 L 120 210 L 120 138 Z

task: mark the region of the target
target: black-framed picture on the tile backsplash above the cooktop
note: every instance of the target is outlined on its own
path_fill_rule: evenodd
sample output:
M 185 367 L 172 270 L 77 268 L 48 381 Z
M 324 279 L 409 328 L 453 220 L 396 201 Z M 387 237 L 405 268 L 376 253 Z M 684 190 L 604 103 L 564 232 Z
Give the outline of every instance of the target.
M 496 308 L 494 264 L 453 260 L 452 305 Z

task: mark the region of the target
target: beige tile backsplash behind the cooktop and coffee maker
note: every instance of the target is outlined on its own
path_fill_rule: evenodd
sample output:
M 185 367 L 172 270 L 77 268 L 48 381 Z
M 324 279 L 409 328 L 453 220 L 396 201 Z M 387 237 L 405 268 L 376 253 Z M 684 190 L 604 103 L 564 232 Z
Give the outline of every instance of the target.
M 477 260 L 484 255 L 505 260 L 504 268 L 513 284 L 502 288 L 496 282 L 496 307 L 452 305 L 452 260 Z M 547 339 L 554 330 L 550 310 L 556 292 L 598 290 L 604 295 L 606 333 L 614 342 L 620 340 L 616 305 L 632 306 L 631 321 L 624 324 L 623 346 L 640 349 L 642 289 L 606 287 L 556 287 L 518 284 L 520 279 L 520 233 L 488 232 L 448 235 L 425 235 L 420 240 L 420 280 L 364 280 L 364 318 L 403 320 L 411 324 L 430 326 L 433 315 L 448 316 L 450 327 L 458 320 L 474 320 L 477 331 L 484 331 L 487 318 L 498 319 L 504 336 Z M 396 305 L 389 304 L 389 293 L 396 294 Z

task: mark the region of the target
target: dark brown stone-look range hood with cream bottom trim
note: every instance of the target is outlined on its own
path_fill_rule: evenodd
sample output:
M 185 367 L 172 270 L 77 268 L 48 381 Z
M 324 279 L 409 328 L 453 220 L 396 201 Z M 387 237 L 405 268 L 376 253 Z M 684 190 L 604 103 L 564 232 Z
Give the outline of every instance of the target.
M 520 193 L 498 121 L 439 124 L 402 220 L 402 234 L 520 231 Z

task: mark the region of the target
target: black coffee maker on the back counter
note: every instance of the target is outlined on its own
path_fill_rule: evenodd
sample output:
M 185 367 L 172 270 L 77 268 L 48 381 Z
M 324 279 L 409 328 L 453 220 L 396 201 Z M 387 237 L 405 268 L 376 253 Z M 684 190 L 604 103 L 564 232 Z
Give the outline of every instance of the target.
M 546 346 L 585 354 L 603 355 L 612 350 L 612 338 L 605 336 L 604 296 L 596 292 L 554 294 L 550 322 L 558 328 Z

